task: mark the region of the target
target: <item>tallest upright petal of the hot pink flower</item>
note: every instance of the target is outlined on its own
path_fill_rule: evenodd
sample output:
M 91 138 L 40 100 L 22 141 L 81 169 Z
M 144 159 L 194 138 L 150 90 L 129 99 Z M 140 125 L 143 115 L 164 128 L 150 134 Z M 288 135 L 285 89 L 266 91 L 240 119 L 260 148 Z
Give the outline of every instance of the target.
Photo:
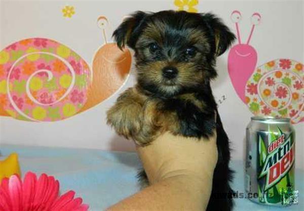
M 23 211 L 30 211 L 33 209 L 31 205 L 35 196 L 36 181 L 37 177 L 34 173 L 26 173 L 22 185 Z

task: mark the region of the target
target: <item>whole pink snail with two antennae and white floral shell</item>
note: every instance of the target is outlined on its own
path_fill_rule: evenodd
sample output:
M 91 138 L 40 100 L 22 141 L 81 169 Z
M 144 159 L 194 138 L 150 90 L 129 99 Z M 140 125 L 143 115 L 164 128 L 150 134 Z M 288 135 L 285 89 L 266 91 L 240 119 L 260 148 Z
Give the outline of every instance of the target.
M 256 116 L 290 118 L 292 123 L 304 121 L 303 65 L 290 59 L 276 59 L 256 68 L 257 52 L 249 45 L 261 15 L 251 17 L 252 28 L 246 44 L 241 42 L 241 13 L 233 11 L 238 44 L 228 55 L 228 72 L 232 84 L 249 110 Z

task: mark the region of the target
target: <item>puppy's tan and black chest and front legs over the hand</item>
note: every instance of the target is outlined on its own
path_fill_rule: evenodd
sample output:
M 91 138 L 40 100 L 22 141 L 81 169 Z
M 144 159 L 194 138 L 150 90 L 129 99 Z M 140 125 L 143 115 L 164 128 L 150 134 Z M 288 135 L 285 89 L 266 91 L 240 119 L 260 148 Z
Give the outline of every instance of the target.
M 208 137 L 215 128 L 215 108 L 209 103 L 198 93 L 162 98 L 133 87 L 121 94 L 108 111 L 107 121 L 118 134 L 140 145 L 149 144 L 165 131 Z

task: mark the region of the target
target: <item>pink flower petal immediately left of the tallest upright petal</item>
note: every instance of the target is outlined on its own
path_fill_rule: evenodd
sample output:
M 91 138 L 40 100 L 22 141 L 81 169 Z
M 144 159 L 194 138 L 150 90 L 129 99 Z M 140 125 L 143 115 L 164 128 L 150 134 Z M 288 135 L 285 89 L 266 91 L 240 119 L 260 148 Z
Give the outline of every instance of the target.
M 17 175 L 12 175 L 9 180 L 9 193 L 12 210 L 22 210 L 22 184 Z

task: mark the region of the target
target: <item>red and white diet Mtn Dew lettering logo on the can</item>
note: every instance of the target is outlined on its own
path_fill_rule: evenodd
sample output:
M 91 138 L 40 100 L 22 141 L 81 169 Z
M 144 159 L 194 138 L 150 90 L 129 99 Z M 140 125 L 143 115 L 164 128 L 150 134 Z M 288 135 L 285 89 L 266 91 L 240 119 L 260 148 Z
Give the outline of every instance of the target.
M 264 162 L 261 165 L 262 170 L 258 178 L 266 175 L 264 191 L 267 191 L 285 177 L 294 163 L 294 142 L 292 142 L 290 135 L 288 137 L 285 136 L 285 134 L 281 133 L 276 140 L 272 141 L 267 153 L 265 153 L 266 149 L 262 142 L 263 140 L 259 137 L 259 141 L 262 142 L 259 143 L 260 156 L 262 156 L 261 159 Z

